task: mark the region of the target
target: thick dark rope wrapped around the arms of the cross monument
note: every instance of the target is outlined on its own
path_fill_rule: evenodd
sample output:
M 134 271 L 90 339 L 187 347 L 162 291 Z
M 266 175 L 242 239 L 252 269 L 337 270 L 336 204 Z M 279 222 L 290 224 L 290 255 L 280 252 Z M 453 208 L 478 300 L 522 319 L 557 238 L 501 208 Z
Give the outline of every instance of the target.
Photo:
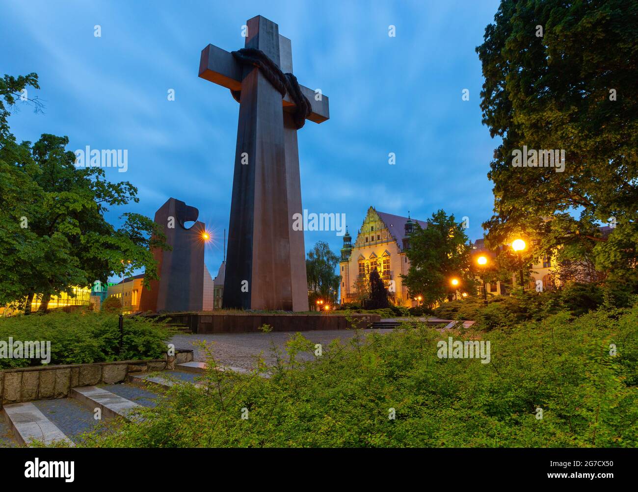
M 281 69 L 273 62 L 268 55 L 262 50 L 256 48 L 242 48 L 232 52 L 232 55 L 244 65 L 253 65 L 259 68 L 263 76 L 267 78 L 268 82 L 272 84 L 272 87 L 277 89 L 281 94 L 281 97 L 286 96 L 286 92 L 290 94 L 293 102 L 295 103 L 296 110 L 293 113 L 293 119 L 295 120 L 295 126 L 300 129 L 306 124 L 306 118 L 312 112 L 310 101 L 301 93 L 299 89 L 299 82 L 297 77 L 292 73 L 283 73 Z M 235 101 L 239 103 L 241 99 L 241 90 L 230 91 L 235 98 Z

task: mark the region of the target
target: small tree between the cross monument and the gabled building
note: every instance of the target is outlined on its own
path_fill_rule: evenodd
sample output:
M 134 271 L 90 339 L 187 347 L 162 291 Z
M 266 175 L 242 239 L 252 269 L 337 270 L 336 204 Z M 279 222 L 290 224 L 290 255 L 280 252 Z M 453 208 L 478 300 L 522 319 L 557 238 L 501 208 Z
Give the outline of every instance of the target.
M 341 276 L 334 273 L 339 257 L 330 250 L 328 243 L 320 241 L 308 252 L 306 275 L 308 276 L 309 301 L 316 299 L 337 301 Z

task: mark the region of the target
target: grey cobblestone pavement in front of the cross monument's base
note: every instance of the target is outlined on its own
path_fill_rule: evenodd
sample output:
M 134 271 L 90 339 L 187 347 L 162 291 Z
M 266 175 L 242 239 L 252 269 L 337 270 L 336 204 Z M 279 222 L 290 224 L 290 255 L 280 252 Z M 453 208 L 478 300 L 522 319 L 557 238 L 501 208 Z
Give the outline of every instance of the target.
M 376 333 L 390 333 L 392 329 L 366 329 L 364 335 L 376 331 Z M 348 340 L 354 335 L 350 329 L 302 331 L 302 334 L 315 344 L 324 347 L 334 338 Z M 212 335 L 175 335 L 171 343 L 177 349 L 193 349 L 193 357 L 196 361 L 205 361 L 204 353 L 200 347 L 193 346 L 193 342 L 204 340 L 207 344 L 213 342 L 212 353 L 217 363 L 223 366 L 241 367 L 243 369 L 255 368 L 255 356 L 263 351 L 266 363 L 272 365 L 275 358 L 271 356 L 271 342 L 279 349 L 284 349 L 286 340 L 293 336 L 292 331 L 272 331 L 271 333 L 215 333 Z M 300 359 L 311 359 L 311 354 L 300 354 Z

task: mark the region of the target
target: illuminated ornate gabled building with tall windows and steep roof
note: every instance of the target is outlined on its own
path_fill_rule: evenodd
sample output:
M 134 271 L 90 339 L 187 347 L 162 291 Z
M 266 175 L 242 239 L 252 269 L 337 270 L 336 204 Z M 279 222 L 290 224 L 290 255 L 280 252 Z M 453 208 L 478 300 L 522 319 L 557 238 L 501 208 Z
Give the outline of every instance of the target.
M 403 286 L 401 278 L 410 269 L 406 250 L 410 247 L 410 235 L 417 223 L 427 228 L 427 222 L 411 219 L 409 213 L 408 217 L 401 217 L 378 212 L 371 206 L 354 243 L 346 230 L 339 262 L 342 304 L 361 300 L 366 279 L 376 268 L 396 305 L 417 305 L 417 301 L 408 298 L 408 289 Z

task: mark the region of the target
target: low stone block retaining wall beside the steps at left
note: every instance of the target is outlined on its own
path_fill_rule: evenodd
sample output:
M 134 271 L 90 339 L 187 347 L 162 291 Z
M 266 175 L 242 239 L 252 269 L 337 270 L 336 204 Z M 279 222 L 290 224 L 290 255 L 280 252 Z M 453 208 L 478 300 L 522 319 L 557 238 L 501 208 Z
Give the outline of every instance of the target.
M 72 387 L 123 382 L 128 373 L 174 369 L 175 364 L 192 360 L 192 350 L 175 349 L 175 356 L 165 354 L 162 359 L 4 369 L 0 371 L 0 409 L 10 403 L 66 398 Z

